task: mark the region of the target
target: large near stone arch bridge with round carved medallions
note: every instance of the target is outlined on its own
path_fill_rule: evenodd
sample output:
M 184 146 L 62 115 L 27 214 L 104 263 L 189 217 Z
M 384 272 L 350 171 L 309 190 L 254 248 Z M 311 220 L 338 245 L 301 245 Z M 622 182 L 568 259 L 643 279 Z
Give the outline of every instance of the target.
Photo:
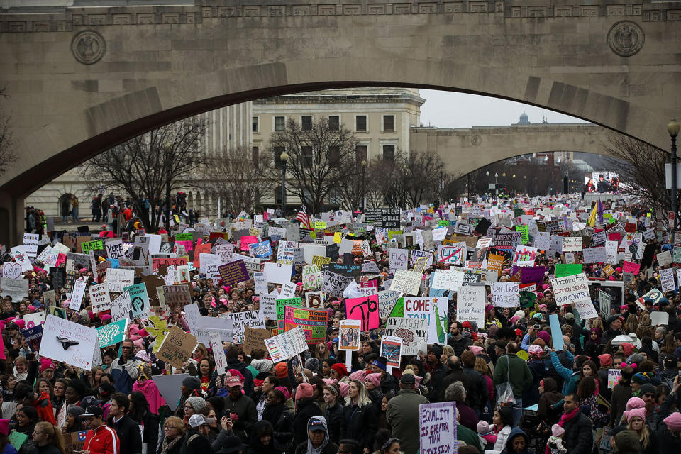
M 0 240 L 21 232 L 26 194 L 92 155 L 262 96 L 458 90 L 545 106 L 659 148 L 681 112 L 679 2 L 45 3 L 0 3 L 0 82 L 20 154 L 0 178 Z

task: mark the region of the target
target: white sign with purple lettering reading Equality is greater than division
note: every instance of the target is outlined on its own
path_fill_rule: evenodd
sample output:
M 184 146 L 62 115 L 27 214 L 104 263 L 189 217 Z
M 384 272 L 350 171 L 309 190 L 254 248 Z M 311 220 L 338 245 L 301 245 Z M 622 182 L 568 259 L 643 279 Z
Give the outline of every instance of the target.
M 456 402 L 419 405 L 421 453 L 456 453 Z

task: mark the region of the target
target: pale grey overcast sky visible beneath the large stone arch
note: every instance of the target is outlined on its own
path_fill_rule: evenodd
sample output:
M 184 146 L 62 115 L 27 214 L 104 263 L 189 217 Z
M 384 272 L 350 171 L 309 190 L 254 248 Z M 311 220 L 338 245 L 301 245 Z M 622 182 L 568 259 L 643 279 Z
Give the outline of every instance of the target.
M 422 89 L 421 97 L 426 99 L 426 103 L 421 106 L 423 126 L 506 126 L 518 123 L 523 111 L 529 116 L 530 123 L 541 123 L 545 115 L 549 123 L 585 123 L 573 116 L 489 96 Z

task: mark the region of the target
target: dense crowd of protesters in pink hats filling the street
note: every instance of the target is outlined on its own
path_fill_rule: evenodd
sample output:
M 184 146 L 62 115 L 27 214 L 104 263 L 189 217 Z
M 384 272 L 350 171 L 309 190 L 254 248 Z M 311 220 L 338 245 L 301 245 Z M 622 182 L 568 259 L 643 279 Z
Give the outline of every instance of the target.
M 536 214 L 541 208 L 575 211 L 575 200 L 553 196 L 431 206 L 403 211 L 402 228 L 423 228 L 433 220 L 437 226 L 439 218 L 453 219 L 461 209 L 469 219 L 476 209 L 488 218 L 497 216 L 491 213 L 519 218 L 517 210 L 531 212 L 533 223 L 545 218 Z M 654 214 L 641 205 L 619 202 L 604 208 L 620 213 L 619 222 L 629 220 L 638 232 L 655 226 Z M 582 209 L 591 211 L 590 206 Z M 352 216 L 360 221 L 362 215 Z M 269 221 L 271 226 L 276 222 Z M 491 238 L 489 233 L 501 227 L 496 224 L 492 222 L 485 235 Z M 667 232 L 660 225 L 657 231 L 662 235 L 644 243 L 654 245 L 655 253 L 672 250 Z M 54 244 L 60 236 L 50 233 L 50 238 Z M 351 263 L 376 262 L 382 289 L 393 277 L 389 248 L 370 229 L 355 232 L 355 238 L 370 240 L 372 250 L 356 254 Z M 271 240 L 275 260 L 277 240 Z M 493 251 L 492 245 L 487 253 Z M 11 262 L 8 254 L 2 259 Z M 582 259 L 582 253 L 575 253 L 577 263 Z M 621 287 L 621 301 L 614 300 L 608 314 L 587 320 L 580 319 L 574 305 L 555 302 L 551 277 L 561 260 L 564 255 L 550 257 L 543 250 L 536 255 L 534 265 L 545 267 L 545 273 L 529 305 L 494 307 L 486 287 L 484 326 L 457 320 L 457 294 L 451 292 L 446 342 L 429 344 L 419 355 L 402 355 L 402 363 L 392 370 L 380 355 L 382 328 L 362 332 L 360 350 L 346 360 L 350 353 L 338 350 L 338 327 L 346 318 L 344 299 L 327 295 L 326 340 L 309 345 L 301 361 L 275 364 L 265 349 L 246 355 L 241 345 L 223 343 L 224 375 L 218 375 L 213 352 L 204 344 L 182 368 L 159 360 L 145 317 L 131 321 L 125 341 L 101 350 L 102 364 L 92 370 L 40 357 L 23 338 L 23 316 L 47 309 L 43 294 L 48 290 L 55 291 L 58 306 L 68 307 L 68 300 L 64 289 L 51 287 L 48 270 L 36 260 L 33 270 L 22 276 L 29 281 L 28 294 L 21 299 L 5 296 L 1 307 L 0 397 L 7 419 L 0 419 L 0 450 L 16 452 L 9 443 L 16 432 L 26 436 L 20 454 L 63 454 L 70 434 L 87 431 L 81 448 L 85 454 L 415 454 L 420 452 L 419 406 L 455 402 L 459 453 L 678 452 L 681 295 L 676 287 L 656 301 L 636 301 L 651 289 L 661 289 L 659 271 L 673 265 L 660 266 L 655 256 Z M 611 265 L 614 272 L 609 275 L 607 265 L 585 264 L 582 271 L 595 282 L 621 282 L 622 260 Z M 421 294 L 429 294 L 431 273 L 449 267 L 438 262 L 426 267 Z M 77 279 L 92 282 L 92 268 L 76 271 Z M 297 284 L 296 296 L 304 300 L 301 271 L 301 266 L 294 267 L 292 282 Z M 225 286 L 196 269 L 190 279 L 191 302 L 199 305 L 202 316 L 259 308 L 253 280 Z M 516 279 L 510 262 L 498 279 Z M 270 283 L 267 291 L 281 287 Z M 112 293 L 111 299 L 116 296 Z M 87 295 L 80 311 L 67 309 L 70 320 L 95 327 L 111 323 L 108 311 L 94 314 L 86 301 Z M 598 308 L 594 287 L 592 301 Z M 182 308 L 155 312 L 168 326 L 189 331 Z M 660 312 L 668 321 L 655 325 L 651 315 Z M 552 330 L 551 315 L 558 316 L 560 333 Z M 276 321 L 267 324 L 274 327 Z M 563 347 L 555 348 L 557 336 L 562 336 Z M 609 386 L 609 370 L 619 371 L 614 387 Z M 175 373 L 189 377 L 182 380 L 178 402 L 169 403 L 152 377 Z

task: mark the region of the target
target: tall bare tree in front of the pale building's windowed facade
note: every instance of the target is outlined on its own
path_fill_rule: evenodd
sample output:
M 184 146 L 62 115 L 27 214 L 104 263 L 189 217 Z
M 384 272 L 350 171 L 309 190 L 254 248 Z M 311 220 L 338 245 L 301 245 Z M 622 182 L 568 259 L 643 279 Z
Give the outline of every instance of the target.
M 326 117 L 301 128 L 293 119 L 285 131 L 272 134 L 267 151 L 274 167 L 281 167 L 279 155 L 289 155 L 287 192 L 297 196 L 312 213 L 319 213 L 323 204 L 341 185 L 347 184 L 348 168 L 357 162 L 357 143 L 345 126 L 338 131 L 330 128 Z M 272 172 L 273 175 L 276 172 Z

